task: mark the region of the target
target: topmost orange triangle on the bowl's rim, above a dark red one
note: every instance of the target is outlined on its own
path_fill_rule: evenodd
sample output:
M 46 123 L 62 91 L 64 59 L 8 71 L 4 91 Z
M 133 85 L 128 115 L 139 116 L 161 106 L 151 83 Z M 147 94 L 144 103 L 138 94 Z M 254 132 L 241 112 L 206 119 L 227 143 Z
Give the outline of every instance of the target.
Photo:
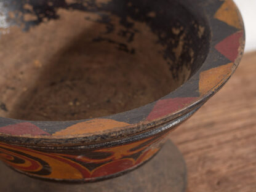
M 239 15 L 236 4 L 232 0 L 226 0 L 220 9 L 217 10 L 214 17 L 239 30 L 242 29 L 241 16 Z

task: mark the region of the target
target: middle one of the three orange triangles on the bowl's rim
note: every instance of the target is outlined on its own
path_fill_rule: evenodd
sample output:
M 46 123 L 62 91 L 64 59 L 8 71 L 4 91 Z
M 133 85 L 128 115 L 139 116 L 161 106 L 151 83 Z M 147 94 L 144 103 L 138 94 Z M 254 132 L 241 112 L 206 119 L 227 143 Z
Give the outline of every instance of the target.
M 221 84 L 226 77 L 231 73 L 233 63 L 218 66 L 207 71 L 200 73 L 199 92 L 206 94 L 209 90 L 215 89 L 216 86 Z

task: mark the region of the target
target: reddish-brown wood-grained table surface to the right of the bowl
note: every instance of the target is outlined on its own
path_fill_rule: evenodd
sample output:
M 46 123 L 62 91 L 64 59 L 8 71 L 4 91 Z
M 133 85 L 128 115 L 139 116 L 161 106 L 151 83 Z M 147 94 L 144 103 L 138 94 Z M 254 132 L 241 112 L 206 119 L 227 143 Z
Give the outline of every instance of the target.
M 188 167 L 188 192 L 256 191 L 256 52 L 170 134 Z

